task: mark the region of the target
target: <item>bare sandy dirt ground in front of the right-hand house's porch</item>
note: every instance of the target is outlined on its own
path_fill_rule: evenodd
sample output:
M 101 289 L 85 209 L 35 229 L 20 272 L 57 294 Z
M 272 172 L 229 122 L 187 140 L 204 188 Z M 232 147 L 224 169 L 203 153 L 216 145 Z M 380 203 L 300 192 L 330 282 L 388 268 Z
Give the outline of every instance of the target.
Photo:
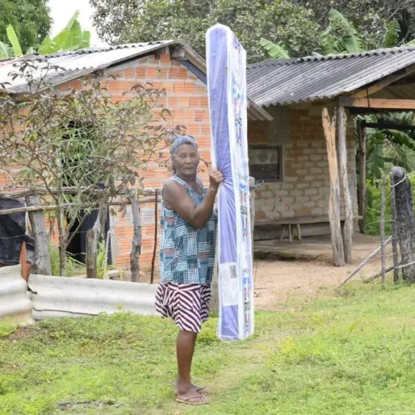
M 331 263 L 331 244 L 329 239 L 307 239 L 302 243 L 283 243 L 277 241 L 257 243 L 270 252 L 291 252 L 291 259 L 260 259 L 255 261 L 255 306 L 263 309 L 285 308 L 290 299 L 299 296 L 316 295 L 326 286 L 336 286 L 357 268 L 371 252 L 380 245 L 378 238 L 356 235 L 353 242 L 353 264 L 335 267 Z M 276 248 L 277 247 L 277 248 Z M 257 250 L 257 248 L 256 248 Z M 301 252 L 302 255 L 297 255 Z M 273 257 L 274 255 L 270 255 Z M 275 255 L 278 257 L 278 255 Z M 290 256 L 290 255 L 287 255 Z M 308 259 L 297 259 L 308 258 Z M 386 250 L 387 266 L 391 264 L 391 248 Z M 361 280 L 380 272 L 380 255 L 377 255 L 353 277 Z

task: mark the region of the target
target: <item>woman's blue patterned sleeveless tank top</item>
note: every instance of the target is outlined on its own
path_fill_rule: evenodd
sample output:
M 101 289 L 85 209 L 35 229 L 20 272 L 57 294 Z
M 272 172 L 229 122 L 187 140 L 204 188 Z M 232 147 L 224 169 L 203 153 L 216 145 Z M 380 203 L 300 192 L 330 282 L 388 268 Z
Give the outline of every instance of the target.
M 198 194 L 178 176 L 172 180 L 182 185 L 196 206 L 205 197 L 203 184 L 197 179 L 203 194 Z M 212 214 L 202 229 L 194 228 L 162 201 L 160 225 L 162 239 L 160 248 L 161 282 L 176 284 L 210 284 L 214 267 L 217 216 Z

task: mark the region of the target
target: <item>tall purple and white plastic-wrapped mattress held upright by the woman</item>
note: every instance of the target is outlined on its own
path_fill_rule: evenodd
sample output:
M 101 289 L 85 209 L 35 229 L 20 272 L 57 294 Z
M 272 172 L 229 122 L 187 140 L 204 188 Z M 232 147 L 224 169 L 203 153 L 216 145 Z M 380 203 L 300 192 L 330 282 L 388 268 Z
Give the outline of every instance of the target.
M 218 194 L 219 327 L 222 340 L 254 331 L 247 142 L 246 51 L 227 26 L 206 34 L 212 165 Z

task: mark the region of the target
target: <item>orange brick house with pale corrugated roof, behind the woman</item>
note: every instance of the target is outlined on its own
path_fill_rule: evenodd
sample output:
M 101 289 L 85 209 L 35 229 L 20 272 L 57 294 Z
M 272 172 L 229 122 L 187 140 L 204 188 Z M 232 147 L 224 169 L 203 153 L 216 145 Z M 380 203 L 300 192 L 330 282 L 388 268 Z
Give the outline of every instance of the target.
M 25 59 L 25 57 L 20 58 Z M 65 69 L 58 75 L 52 75 L 48 82 L 64 91 L 79 88 L 82 76 L 98 69 L 104 70 L 107 89 L 111 99 L 117 102 L 125 91 L 132 86 L 151 82 L 155 88 L 165 89 L 163 107 L 172 112 L 171 124 L 183 125 L 186 132 L 194 136 L 199 143 L 201 158 L 210 162 L 210 120 L 208 95 L 206 91 L 205 62 L 194 51 L 179 41 L 149 42 L 108 48 L 78 50 L 73 53 L 57 53 L 47 57 L 48 62 Z M 6 93 L 15 95 L 27 91 L 21 80 L 11 80 L 8 73 L 18 59 L 0 61 L 0 82 L 8 82 Z M 109 75 L 113 77 L 109 78 Z M 1 88 L 1 86 L 0 86 Z M 3 90 L 4 92 L 4 90 Z M 248 116 L 253 120 L 270 120 L 266 111 L 250 101 Z M 140 266 L 149 270 L 154 255 L 155 241 L 155 190 L 160 190 L 163 182 L 171 175 L 163 167 L 149 165 L 144 185 L 147 198 L 142 199 L 142 255 Z M 10 177 L 0 170 L 0 192 L 12 184 Z M 160 204 L 158 203 L 158 208 Z M 112 263 L 128 266 L 131 239 L 133 235 L 131 209 L 127 207 L 127 216 L 110 218 L 113 225 L 111 235 Z M 46 224 L 48 225 L 48 224 Z M 91 225 L 91 223 L 90 223 Z M 71 252 L 71 251 L 70 251 Z M 156 257 L 157 258 L 157 257 Z

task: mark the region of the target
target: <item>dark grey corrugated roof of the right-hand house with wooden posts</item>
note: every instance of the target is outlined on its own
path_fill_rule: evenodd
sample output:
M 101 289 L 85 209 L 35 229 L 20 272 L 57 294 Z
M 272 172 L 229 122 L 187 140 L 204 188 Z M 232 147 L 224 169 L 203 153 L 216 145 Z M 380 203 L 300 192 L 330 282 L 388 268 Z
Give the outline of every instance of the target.
M 248 66 L 248 94 L 264 107 L 327 100 L 412 64 L 414 47 L 266 61 Z

